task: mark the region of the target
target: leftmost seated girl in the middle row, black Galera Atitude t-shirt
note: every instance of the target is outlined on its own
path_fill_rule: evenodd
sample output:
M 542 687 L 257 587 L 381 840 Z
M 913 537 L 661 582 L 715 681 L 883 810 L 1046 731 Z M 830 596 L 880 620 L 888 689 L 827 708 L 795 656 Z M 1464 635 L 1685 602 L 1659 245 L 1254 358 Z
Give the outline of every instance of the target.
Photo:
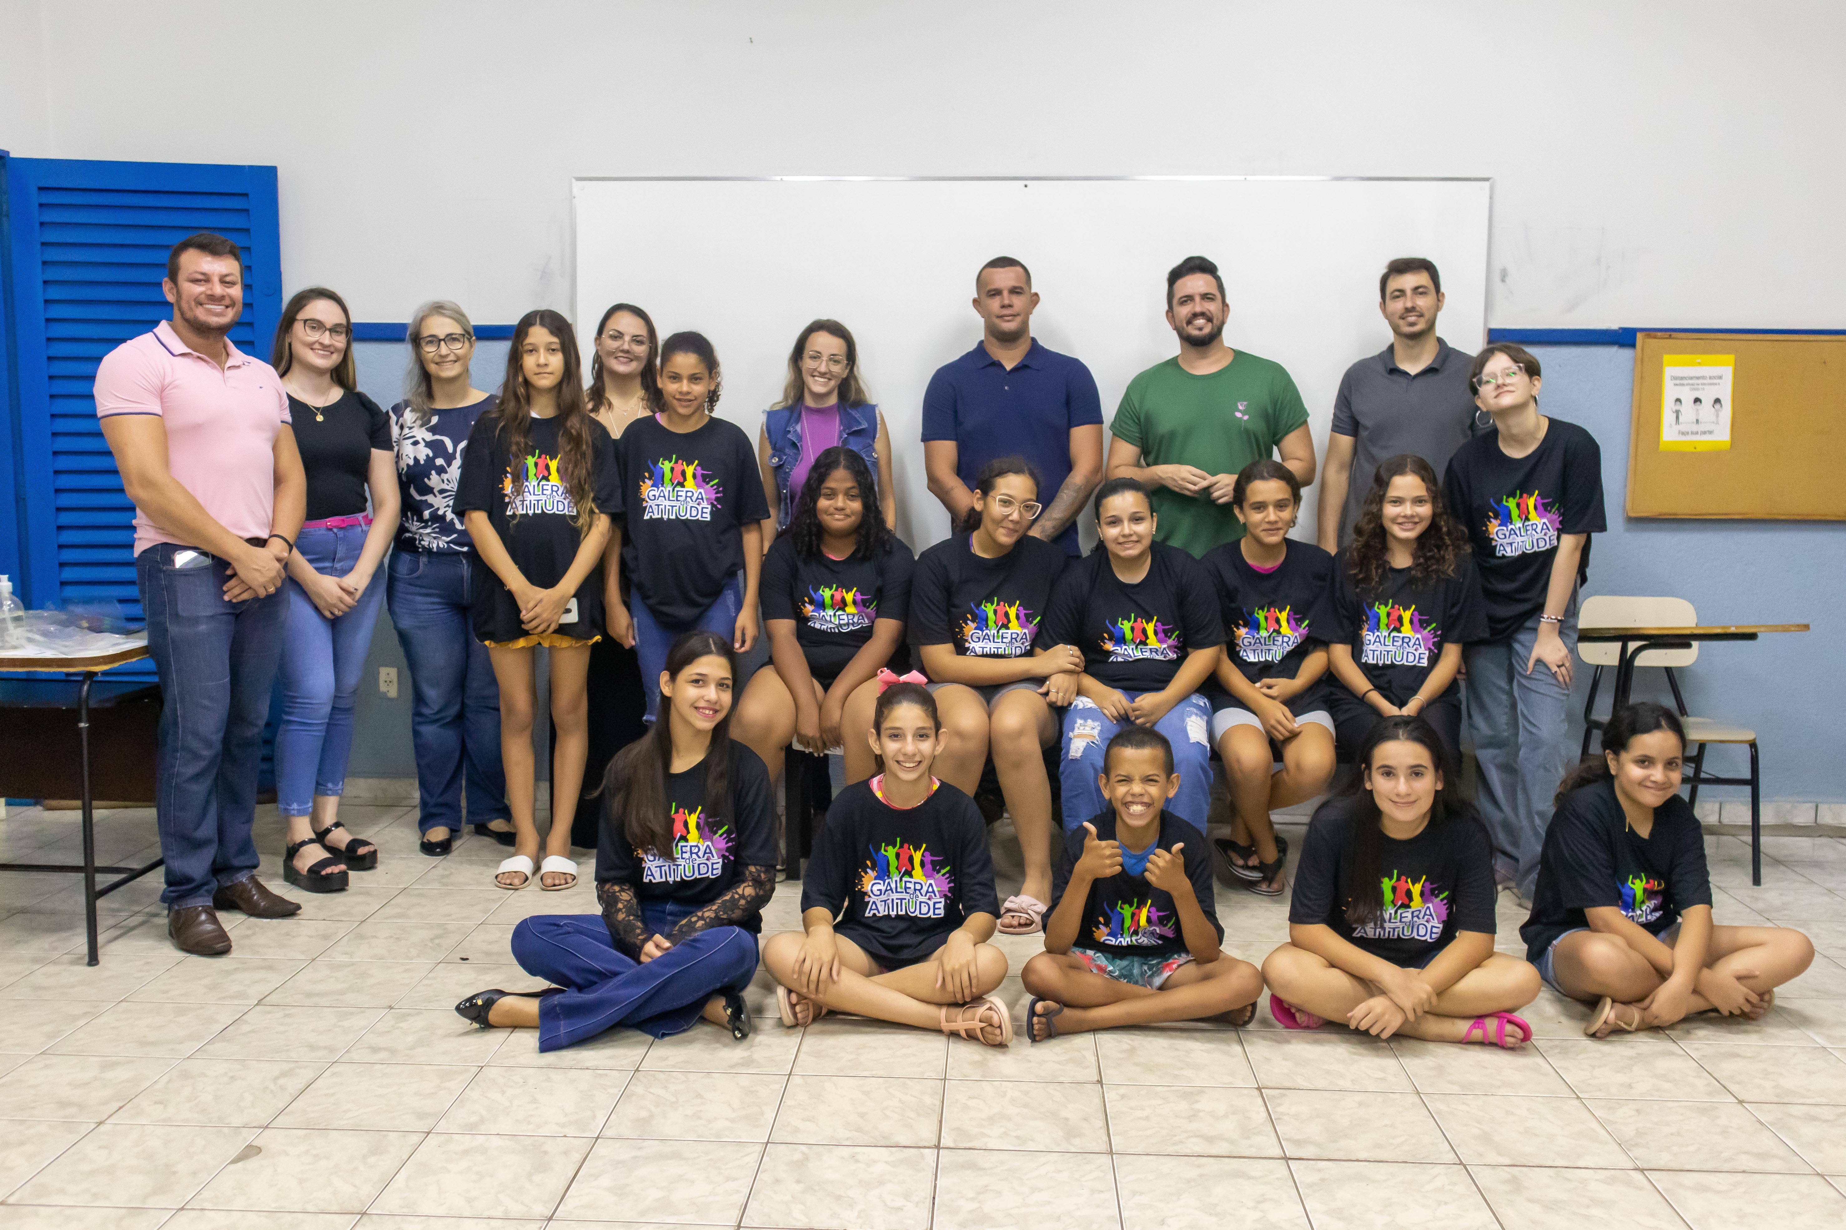
M 877 509 L 879 483 L 866 459 L 827 448 L 801 483 L 788 533 L 762 559 L 775 669 L 757 671 L 744 690 L 737 738 L 762 756 L 772 782 L 783 775 L 790 739 L 816 756 L 844 747 L 845 780 L 871 776 L 873 675 L 903 649 L 916 568 Z

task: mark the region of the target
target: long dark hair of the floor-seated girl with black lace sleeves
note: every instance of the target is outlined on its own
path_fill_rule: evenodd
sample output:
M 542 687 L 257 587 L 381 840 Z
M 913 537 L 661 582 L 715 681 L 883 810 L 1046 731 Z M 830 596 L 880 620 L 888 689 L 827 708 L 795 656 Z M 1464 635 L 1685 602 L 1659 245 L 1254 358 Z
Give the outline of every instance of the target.
M 705 752 L 705 808 L 724 821 L 731 819 L 731 714 L 737 712 L 737 653 L 731 642 L 716 633 L 692 631 L 681 634 L 666 651 L 666 673 L 676 680 L 700 658 L 724 658 L 731 668 L 731 708 L 711 728 L 711 751 Z M 644 736 L 624 747 L 602 775 L 604 808 L 620 819 L 622 835 L 637 850 L 672 856 L 674 817 L 668 813 L 666 775 L 674 763 L 674 723 L 663 712 Z

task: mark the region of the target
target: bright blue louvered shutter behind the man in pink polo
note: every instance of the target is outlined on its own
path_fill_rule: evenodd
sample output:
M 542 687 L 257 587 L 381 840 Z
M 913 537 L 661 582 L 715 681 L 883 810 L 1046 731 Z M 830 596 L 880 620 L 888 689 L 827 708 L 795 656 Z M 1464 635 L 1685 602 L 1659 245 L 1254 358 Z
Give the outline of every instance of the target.
M 231 341 L 268 358 L 282 306 L 275 168 L 7 159 L 22 594 L 113 597 L 140 618 L 135 509 L 96 420 L 96 363 L 172 317 L 168 249 L 216 231 L 244 249 Z

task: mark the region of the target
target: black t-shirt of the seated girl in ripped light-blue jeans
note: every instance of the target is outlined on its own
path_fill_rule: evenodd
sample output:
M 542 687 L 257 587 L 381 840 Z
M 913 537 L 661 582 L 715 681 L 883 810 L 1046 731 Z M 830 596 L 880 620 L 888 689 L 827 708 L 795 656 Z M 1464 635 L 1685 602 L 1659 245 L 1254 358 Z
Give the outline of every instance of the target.
M 1148 574 L 1133 585 L 1115 575 L 1100 546 L 1058 577 L 1039 645 L 1076 645 L 1084 673 L 1119 692 L 1159 692 L 1193 649 L 1224 644 L 1218 603 L 1198 561 L 1152 544 Z

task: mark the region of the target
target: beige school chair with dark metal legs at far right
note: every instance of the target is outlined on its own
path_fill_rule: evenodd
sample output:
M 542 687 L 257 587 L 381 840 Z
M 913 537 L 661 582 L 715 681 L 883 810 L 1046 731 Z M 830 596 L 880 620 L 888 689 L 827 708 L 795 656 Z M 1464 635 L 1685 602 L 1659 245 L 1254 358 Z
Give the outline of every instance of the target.
M 1576 612 L 1580 627 L 1693 627 L 1698 612 L 1684 597 L 1621 597 L 1597 594 L 1586 597 Z M 1619 642 L 1599 642 L 1576 645 L 1576 656 L 1584 666 L 1593 666 L 1589 675 L 1589 695 L 1584 699 L 1584 747 L 1582 756 L 1589 756 L 1591 734 L 1606 721 L 1595 716 L 1597 690 L 1602 684 L 1602 668 L 1613 668 L 1621 655 Z M 1685 695 L 1680 692 L 1680 671 L 1698 660 L 1698 645 L 1685 649 L 1647 649 L 1636 656 L 1636 666 L 1658 666 L 1667 673 L 1667 688 L 1672 690 L 1672 708 L 1685 727 L 1687 758 L 1685 784 L 1691 787 L 1687 802 L 1698 806 L 1700 786 L 1748 786 L 1750 787 L 1750 883 L 1763 883 L 1763 773 L 1757 760 L 1756 730 L 1733 727 L 1711 717 L 1693 717 L 1685 712 Z M 1741 745 L 1750 749 L 1750 776 L 1722 776 L 1706 773 L 1706 749 L 1709 743 Z

